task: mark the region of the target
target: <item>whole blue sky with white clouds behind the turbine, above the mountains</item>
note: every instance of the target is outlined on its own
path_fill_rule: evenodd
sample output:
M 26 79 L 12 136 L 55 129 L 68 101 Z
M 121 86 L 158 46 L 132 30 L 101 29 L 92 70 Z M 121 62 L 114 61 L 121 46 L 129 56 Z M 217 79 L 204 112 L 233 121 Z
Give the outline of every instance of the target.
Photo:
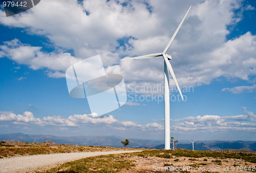
M 170 135 L 256 140 L 253 0 L 45 0 L 10 17 L 1 5 L 0 133 L 164 139 L 163 93 L 141 91 L 163 86 L 163 59 L 120 59 L 162 52 L 190 5 L 167 52 L 181 88 L 190 88 L 179 102 L 170 78 Z M 69 95 L 65 78 L 72 64 L 96 55 L 106 73 L 123 76 L 129 94 L 100 117 L 91 116 L 86 99 Z

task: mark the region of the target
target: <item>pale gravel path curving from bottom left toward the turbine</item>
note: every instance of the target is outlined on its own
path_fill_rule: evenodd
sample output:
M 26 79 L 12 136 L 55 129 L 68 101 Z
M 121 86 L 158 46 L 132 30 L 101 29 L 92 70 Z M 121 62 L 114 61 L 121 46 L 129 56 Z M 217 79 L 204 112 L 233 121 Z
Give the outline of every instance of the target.
M 12 157 L 0 159 L 0 173 L 34 172 L 56 167 L 60 164 L 86 157 L 132 153 L 141 151 L 113 151 L 113 152 L 84 152 L 84 153 L 60 153 L 50 155 L 34 155 L 24 157 Z

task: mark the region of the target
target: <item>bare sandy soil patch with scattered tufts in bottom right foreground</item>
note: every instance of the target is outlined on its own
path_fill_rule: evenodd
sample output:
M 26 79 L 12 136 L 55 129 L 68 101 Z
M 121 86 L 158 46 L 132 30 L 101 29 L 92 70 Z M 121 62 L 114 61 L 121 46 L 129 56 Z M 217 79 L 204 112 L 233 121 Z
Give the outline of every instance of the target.
M 212 161 L 216 161 L 213 158 L 188 158 L 188 157 L 174 157 L 173 159 L 162 159 L 158 157 L 131 157 L 129 158 L 134 160 L 134 164 L 136 167 L 133 167 L 130 170 L 123 170 L 125 173 L 146 173 L 146 172 L 256 172 L 256 164 L 245 162 L 243 160 L 238 159 L 218 159 L 221 163 L 215 163 Z M 174 161 L 179 159 L 179 161 Z M 190 160 L 188 160 L 190 159 Z M 195 161 L 191 161 L 196 159 Z M 207 159 L 207 161 L 204 161 Z M 172 165 L 173 166 L 170 166 Z M 167 165 L 167 166 L 164 166 Z M 184 167 L 183 167 L 184 166 Z M 241 166 L 241 167 L 239 167 Z M 240 170 L 243 167 L 248 169 L 251 167 L 251 171 L 249 170 Z M 254 166 L 254 171 L 252 171 L 252 166 Z M 169 168 L 169 169 L 167 169 Z M 176 169 L 176 171 L 170 169 Z M 181 171 L 178 171 L 181 170 Z M 191 170 L 193 169 L 193 170 Z

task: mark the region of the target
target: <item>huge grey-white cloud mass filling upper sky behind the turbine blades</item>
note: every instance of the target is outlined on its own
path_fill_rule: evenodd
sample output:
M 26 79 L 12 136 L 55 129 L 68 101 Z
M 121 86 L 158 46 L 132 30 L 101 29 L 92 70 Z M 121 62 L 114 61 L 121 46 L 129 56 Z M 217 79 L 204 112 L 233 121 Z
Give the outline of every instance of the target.
M 120 57 L 162 52 L 189 7 L 181 4 L 178 0 L 151 0 L 148 4 L 144 1 L 96 0 L 78 4 L 76 0 L 46 0 L 30 12 L 8 19 L 3 17 L 0 23 L 47 37 L 56 47 L 74 50 L 75 56 L 65 51 L 45 53 L 41 47 L 15 39 L 1 46 L 0 57 L 32 69 L 48 68 L 49 77 L 59 78 L 64 77 L 63 71 L 71 64 L 100 54 L 103 64 L 109 66 L 107 72 L 121 73 L 126 84 L 155 86 L 162 83 L 162 58 L 120 62 Z M 248 76 L 255 75 L 255 35 L 248 32 L 226 40 L 227 26 L 238 23 L 243 19 L 242 11 L 254 10 L 253 7 L 243 7 L 239 0 L 195 0 L 192 4 L 168 51 L 173 56 L 171 63 L 178 81 L 185 86 L 195 86 L 209 84 L 221 76 L 248 80 Z M 174 85 L 173 80 L 170 83 Z

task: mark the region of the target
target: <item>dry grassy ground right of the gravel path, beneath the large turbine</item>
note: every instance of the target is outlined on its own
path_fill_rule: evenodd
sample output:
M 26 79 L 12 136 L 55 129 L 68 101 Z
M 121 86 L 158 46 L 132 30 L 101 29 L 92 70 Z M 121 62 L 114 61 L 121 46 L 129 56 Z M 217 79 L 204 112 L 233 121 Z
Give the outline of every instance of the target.
M 193 155 L 194 157 L 190 157 Z M 255 166 L 255 154 L 233 152 L 199 152 L 178 149 L 173 150 L 144 150 L 143 152 L 126 153 L 119 155 L 98 156 L 80 159 L 65 163 L 52 168 L 44 173 L 81 173 L 81 172 L 125 172 L 125 173 L 148 173 L 148 172 L 174 172 L 166 171 L 170 166 L 203 168 L 205 170 L 191 171 L 185 169 L 175 172 L 198 172 L 198 173 L 224 173 L 224 167 L 229 167 L 228 172 L 248 172 L 240 170 L 239 166 L 247 168 Z M 153 167 L 155 166 L 155 167 Z M 156 171 L 156 168 L 159 171 Z M 231 167 L 234 170 L 231 170 Z M 210 168 L 210 171 L 207 171 Z M 212 170 L 212 168 L 215 168 Z M 162 170 L 161 170 L 162 169 Z M 164 170 L 165 169 L 165 170 Z M 237 171 L 238 169 L 238 171 Z M 254 169 L 255 170 L 255 169 Z M 254 171 L 255 172 L 255 171 Z

